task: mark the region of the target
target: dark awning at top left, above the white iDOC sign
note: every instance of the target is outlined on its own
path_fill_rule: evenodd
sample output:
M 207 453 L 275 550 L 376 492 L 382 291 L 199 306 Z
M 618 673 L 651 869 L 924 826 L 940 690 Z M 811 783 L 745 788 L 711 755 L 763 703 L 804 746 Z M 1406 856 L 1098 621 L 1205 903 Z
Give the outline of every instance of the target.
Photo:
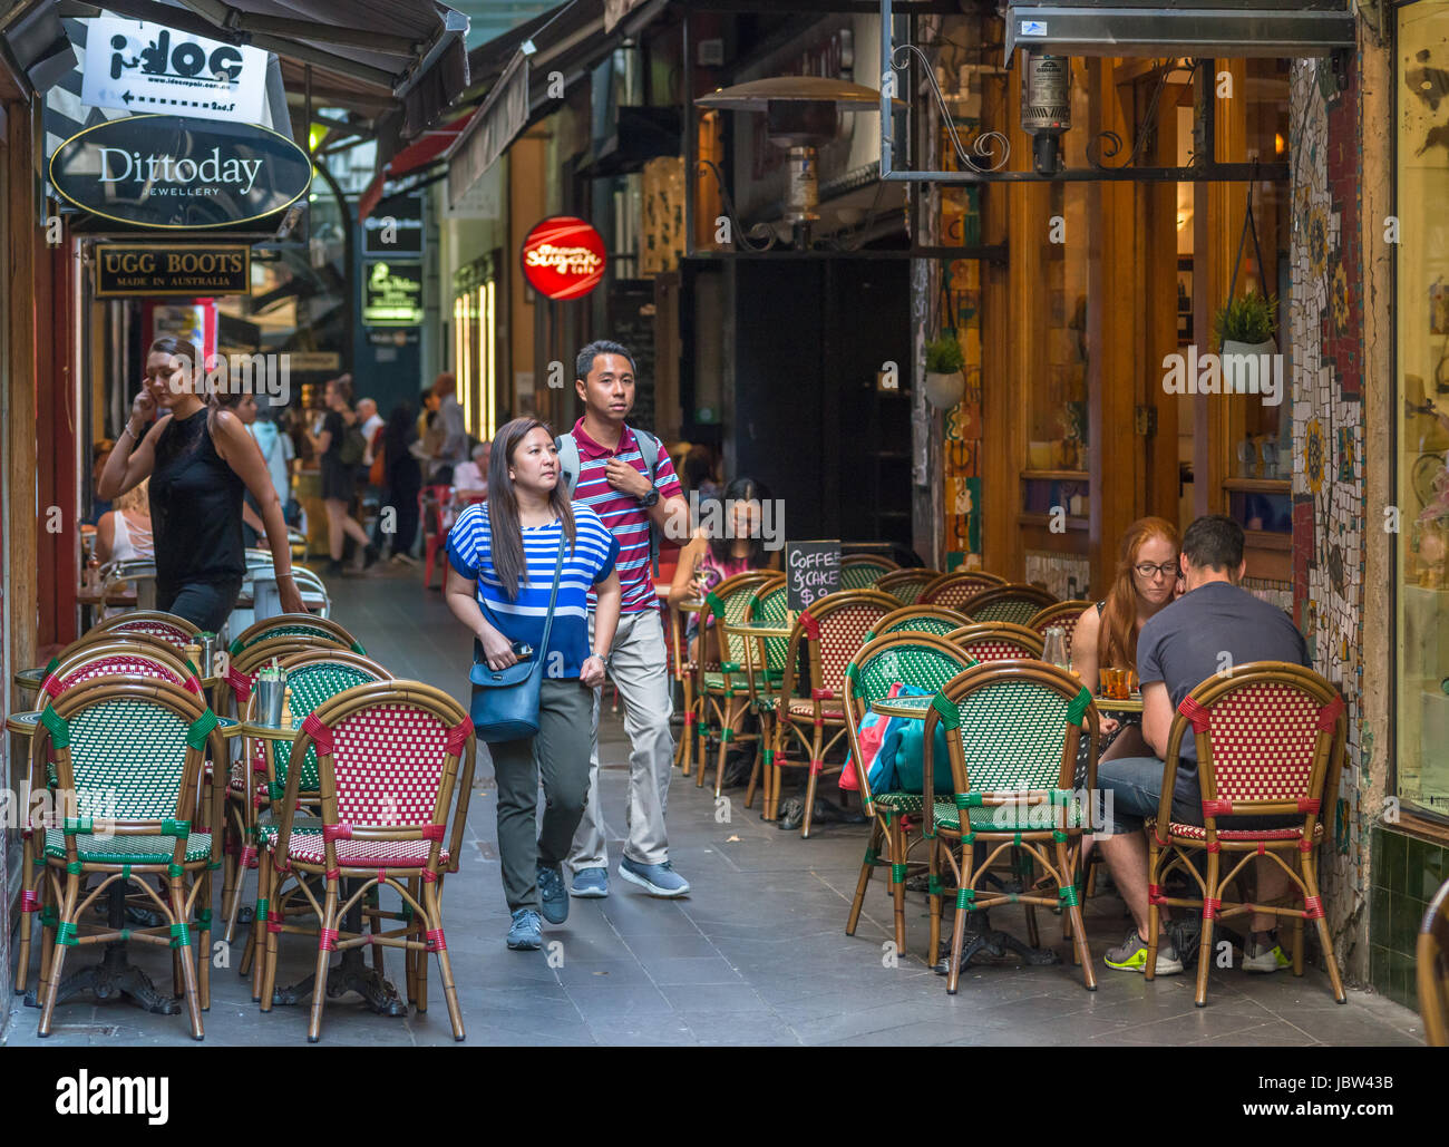
M 422 135 L 468 87 L 468 17 L 435 0 L 181 3 L 184 7 L 158 0 L 104 0 L 104 9 L 310 64 L 314 84 L 323 88 L 329 74 L 346 77 L 374 101 L 400 104 L 409 139 Z M 70 0 L 68 12 L 75 7 L 83 6 Z

